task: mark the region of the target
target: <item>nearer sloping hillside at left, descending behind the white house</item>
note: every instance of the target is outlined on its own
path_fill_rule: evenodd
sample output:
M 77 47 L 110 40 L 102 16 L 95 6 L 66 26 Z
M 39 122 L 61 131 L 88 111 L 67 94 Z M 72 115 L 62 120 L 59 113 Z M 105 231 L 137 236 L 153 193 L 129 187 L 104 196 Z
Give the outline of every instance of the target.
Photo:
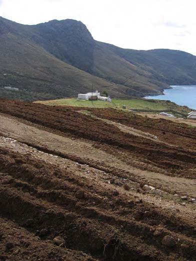
M 106 88 L 113 96 L 124 96 L 124 86 L 61 61 L 24 36 L 28 32 L 25 26 L 7 23 L 6 27 L 4 19 L 0 20 L 1 97 L 36 100 L 76 96 L 78 91 L 91 89 L 92 84 L 94 89 Z M 5 90 L 4 86 L 18 87 L 19 91 Z

